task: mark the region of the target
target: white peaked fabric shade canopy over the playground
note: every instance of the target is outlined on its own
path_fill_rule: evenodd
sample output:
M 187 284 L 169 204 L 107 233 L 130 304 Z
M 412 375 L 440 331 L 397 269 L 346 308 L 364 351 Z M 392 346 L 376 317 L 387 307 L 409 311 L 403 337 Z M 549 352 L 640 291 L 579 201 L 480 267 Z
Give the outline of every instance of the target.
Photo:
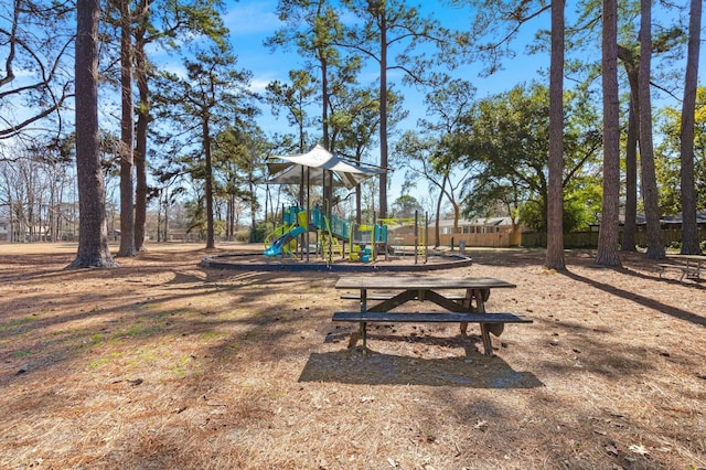
M 317 145 L 307 153 L 296 156 L 278 156 L 286 160 L 284 163 L 267 163 L 269 174 L 275 174 L 267 182 L 270 184 L 301 184 L 313 185 L 324 184 L 323 175 L 333 173 L 333 185 L 353 189 L 361 182 L 376 174 L 384 173 L 385 170 L 376 168 L 364 168 L 352 163 L 346 163 L 341 158 L 332 154 L 327 149 Z M 309 171 L 304 172 L 304 168 Z M 306 173 L 309 173 L 308 175 Z M 331 184 L 325 181 L 325 184 Z

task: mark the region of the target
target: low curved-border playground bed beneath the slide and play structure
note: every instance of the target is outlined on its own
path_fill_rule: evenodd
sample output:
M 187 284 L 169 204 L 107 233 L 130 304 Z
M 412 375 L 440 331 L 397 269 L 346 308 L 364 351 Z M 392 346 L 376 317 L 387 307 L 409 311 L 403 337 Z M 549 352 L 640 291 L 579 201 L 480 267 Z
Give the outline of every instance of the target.
M 415 263 L 416 261 L 416 263 Z M 331 263 L 320 256 L 310 255 L 309 261 L 300 258 L 282 258 L 267 263 L 260 252 L 258 253 L 232 253 L 208 256 L 202 259 L 204 267 L 216 269 L 254 270 L 254 271 L 330 271 L 330 273 L 418 273 L 439 269 L 452 269 L 471 266 L 473 259 L 468 256 L 449 254 L 430 254 L 428 257 L 414 255 L 378 257 L 375 261 L 361 263 L 349 261 L 341 257 L 334 257 Z

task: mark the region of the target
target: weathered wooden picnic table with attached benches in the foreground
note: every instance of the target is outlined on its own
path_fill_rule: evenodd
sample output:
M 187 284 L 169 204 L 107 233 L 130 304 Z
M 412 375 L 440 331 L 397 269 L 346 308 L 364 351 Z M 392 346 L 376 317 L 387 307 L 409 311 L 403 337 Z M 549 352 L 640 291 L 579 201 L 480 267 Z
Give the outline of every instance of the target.
M 345 276 L 335 284 L 336 289 L 357 290 L 360 295 L 342 298 L 360 301 L 360 311 L 334 312 L 333 321 L 360 322 L 363 348 L 367 348 L 367 322 L 458 322 L 466 335 L 469 322 L 480 323 L 484 352 L 492 354 L 489 333 L 499 337 L 505 323 L 531 323 L 532 320 L 515 313 L 488 313 L 485 301 L 492 289 L 514 288 L 514 284 L 485 277 L 440 276 Z M 459 295 L 459 290 L 463 293 Z M 370 305 L 368 301 L 378 303 Z M 430 301 L 447 312 L 392 312 L 408 301 Z M 349 346 L 355 345 L 359 335 L 351 335 Z

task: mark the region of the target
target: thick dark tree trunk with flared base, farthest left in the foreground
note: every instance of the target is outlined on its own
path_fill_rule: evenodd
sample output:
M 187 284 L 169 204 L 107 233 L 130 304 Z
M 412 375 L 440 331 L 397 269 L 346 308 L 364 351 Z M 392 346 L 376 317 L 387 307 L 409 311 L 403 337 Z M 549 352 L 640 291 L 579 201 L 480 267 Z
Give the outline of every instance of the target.
M 78 252 L 68 268 L 116 266 L 108 248 L 98 137 L 98 0 L 76 2 L 76 174 Z

